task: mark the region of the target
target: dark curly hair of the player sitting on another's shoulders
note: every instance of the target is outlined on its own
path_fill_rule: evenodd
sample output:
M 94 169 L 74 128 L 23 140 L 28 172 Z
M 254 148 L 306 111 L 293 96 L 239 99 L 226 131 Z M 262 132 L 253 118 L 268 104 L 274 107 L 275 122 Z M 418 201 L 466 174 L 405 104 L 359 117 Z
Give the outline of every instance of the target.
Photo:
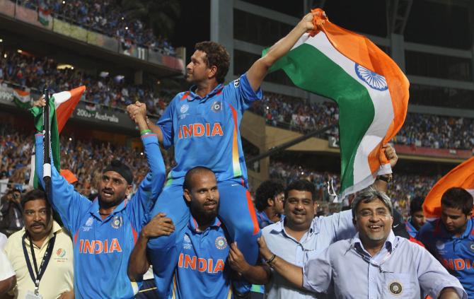
M 207 67 L 217 67 L 216 81 L 217 83 L 224 83 L 231 61 L 231 57 L 226 48 L 217 42 L 198 42 L 195 45 L 195 49 L 206 53 L 204 62 Z

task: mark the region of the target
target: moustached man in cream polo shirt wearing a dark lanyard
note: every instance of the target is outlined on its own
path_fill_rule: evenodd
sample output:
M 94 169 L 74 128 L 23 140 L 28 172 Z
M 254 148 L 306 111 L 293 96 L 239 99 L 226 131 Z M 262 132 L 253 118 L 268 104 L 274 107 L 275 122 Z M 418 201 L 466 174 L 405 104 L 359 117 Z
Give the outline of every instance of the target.
M 26 193 L 21 207 L 25 226 L 8 238 L 5 247 L 16 273 L 11 294 L 14 298 L 74 298 L 71 237 L 53 220 L 45 192 Z

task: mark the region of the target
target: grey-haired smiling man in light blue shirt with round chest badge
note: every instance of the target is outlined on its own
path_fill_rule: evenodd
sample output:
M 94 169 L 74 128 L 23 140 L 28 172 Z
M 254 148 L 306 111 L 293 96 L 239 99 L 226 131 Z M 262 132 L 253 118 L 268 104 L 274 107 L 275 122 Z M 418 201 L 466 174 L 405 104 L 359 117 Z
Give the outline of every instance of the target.
M 393 235 L 392 213 L 386 194 L 368 188 L 352 202 L 354 238 L 335 242 L 317 257 L 306 256 L 302 269 L 272 254 L 262 238 L 260 253 L 296 286 L 335 298 L 468 298 L 429 252 Z

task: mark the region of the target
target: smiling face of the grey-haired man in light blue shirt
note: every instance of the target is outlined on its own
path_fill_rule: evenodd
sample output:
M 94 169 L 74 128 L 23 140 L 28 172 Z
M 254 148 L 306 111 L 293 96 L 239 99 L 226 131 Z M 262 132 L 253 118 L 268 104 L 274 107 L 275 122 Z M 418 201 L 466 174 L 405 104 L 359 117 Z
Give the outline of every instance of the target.
M 363 200 L 357 206 L 354 225 L 362 242 L 371 244 L 385 242 L 391 232 L 392 224 L 393 217 L 390 210 L 380 199 Z

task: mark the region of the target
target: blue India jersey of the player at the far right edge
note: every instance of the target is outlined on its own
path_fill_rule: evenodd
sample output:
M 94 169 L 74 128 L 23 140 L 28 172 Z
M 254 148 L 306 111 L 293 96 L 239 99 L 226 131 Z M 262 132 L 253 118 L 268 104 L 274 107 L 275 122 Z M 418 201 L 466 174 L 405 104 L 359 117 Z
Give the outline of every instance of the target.
M 474 218 L 468 220 L 459 238 L 446 231 L 441 219 L 436 219 L 420 228 L 417 239 L 461 282 L 468 298 L 474 298 Z

